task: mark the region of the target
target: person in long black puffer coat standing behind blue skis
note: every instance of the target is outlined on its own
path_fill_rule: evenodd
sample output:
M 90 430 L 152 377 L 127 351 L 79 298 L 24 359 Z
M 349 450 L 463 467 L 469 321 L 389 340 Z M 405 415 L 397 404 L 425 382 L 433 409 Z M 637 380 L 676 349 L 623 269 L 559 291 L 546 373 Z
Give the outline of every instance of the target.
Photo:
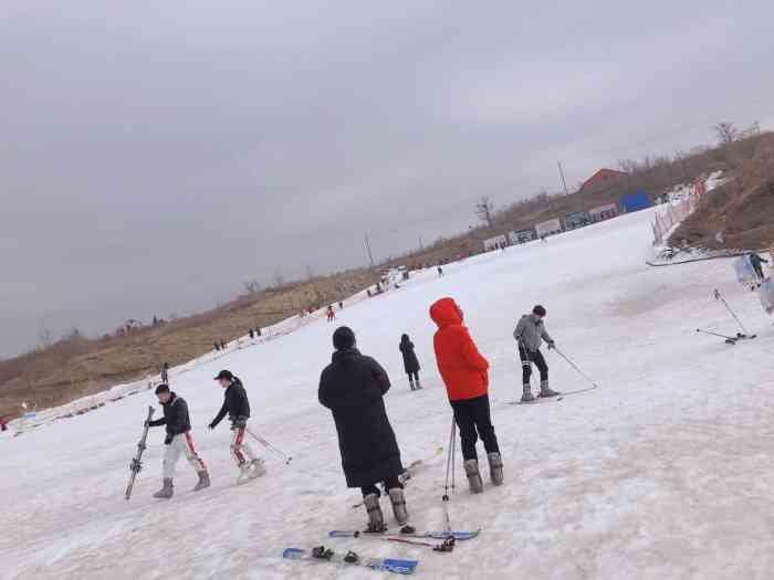
M 368 529 L 385 529 L 377 483 L 384 483 L 395 519 L 408 523 L 399 475 L 400 450 L 383 400 L 389 378 L 376 360 L 355 348 L 355 334 L 343 326 L 333 334 L 336 351 L 320 378 L 317 397 L 333 413 L 342 467 L 348 487 L 359 487 L 368 512 Z

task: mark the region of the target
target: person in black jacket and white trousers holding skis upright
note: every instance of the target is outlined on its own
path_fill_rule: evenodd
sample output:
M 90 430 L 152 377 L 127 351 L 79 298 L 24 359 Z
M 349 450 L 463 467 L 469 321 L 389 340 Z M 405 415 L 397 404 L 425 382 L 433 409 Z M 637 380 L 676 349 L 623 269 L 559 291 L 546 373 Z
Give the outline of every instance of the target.
M 169 499 L 175 489 L 172 479 L 175 477 L 175 465 L 185 455 L 191 467 L 199 475 L 199 482 L 194 487 L 195 492 L 199 492 L 205 487 L 210 486 L 210 475 L 207 472 L 207 466 L 201 457 L 196 453 L 194 447 L 194 437 L 191 437 L 191 420 L 188 415 L 188 404 L 186 400 L 169 391 L 168 384 L 159 384 L 156 387 L 156 397 L 164 409 L 164 416 L 156 421 L 146 422 L 148 426 L 167 428 L 167 436 L 164 439 L 166 449 L 164 450 L 164 486 L 154 494 L 154 497 L 159 499 Z

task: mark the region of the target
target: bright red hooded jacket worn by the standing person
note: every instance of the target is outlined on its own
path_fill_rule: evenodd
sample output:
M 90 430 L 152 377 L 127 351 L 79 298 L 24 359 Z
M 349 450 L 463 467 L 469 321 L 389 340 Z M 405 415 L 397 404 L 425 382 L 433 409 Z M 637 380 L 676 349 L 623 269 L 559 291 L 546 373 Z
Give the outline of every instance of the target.
M 489 361 L 462 325 L 462 312 L 452 298 L 430 306 L 430 318 L 438 325 L 433 338 L 438 370 L 450 401 L 474 399 L 489 392 Z

